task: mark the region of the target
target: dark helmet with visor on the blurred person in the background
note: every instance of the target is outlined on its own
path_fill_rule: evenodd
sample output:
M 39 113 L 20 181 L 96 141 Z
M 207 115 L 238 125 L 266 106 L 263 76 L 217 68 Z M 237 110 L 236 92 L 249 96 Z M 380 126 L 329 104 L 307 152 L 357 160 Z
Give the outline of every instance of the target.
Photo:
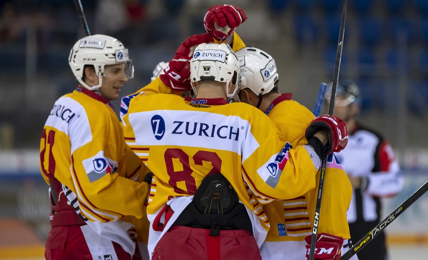
M 326 100 L 329 102 L 331 99 L 331 91 L 333 88 L 333 83 L 330 82 L 327 87 Z M 362 97 L 358 86 L 349 80 L 343 81 L 337 85 L 336 96 L 340 96 L 340 100 L 335 100 L 335 105 L 339 107 L 346 107 L 352 103 L 361 105 Z

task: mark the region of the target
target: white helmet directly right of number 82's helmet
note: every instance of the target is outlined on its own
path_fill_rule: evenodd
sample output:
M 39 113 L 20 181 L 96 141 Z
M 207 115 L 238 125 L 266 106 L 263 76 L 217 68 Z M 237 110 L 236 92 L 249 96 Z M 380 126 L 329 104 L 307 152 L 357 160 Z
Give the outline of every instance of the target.
M 256 95 L 269 93 L 279 81 L 274 58 L 256 47 L 236 51 L 241 68 L 241 89 L 249 88 Z

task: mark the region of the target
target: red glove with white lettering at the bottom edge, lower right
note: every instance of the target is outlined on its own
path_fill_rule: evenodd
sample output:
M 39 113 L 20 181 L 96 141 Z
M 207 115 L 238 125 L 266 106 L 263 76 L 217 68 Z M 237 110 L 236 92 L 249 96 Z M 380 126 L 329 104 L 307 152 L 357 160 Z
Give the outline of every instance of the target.
M 312 235 L 306 236 L 306 258 L 309 259 L 310 248 L 311 248 Z M 340 236 L 334 236 L 327 233 L 321 233 L 317 235 L 317 241 L 315 243 L 314 259 L 323 260 L 340 260 L 342 253 L 343 238 Z

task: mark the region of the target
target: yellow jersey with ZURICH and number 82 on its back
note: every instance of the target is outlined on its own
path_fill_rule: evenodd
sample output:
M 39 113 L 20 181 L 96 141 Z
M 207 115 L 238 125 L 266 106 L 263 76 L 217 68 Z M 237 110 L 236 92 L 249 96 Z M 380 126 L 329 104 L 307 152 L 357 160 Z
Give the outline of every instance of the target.
M 269 229 L 259 202 L 291 199 L 315 188 L 319 158 L 312 161 L 305 146 L 292 148 L 251 105 L 137 95 L 123 120 L 126 143 L 154 174 L 147 207 L 149 252 L 209 173 L 220 172 L 231 183 L 248 209 L 259 245 Z M 174 214 L 165 213 L 165 205 Z

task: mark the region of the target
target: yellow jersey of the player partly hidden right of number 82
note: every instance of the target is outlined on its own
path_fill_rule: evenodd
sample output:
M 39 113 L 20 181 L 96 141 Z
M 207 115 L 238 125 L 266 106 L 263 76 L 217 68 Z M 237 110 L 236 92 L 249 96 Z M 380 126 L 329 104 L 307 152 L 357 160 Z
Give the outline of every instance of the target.
M 286 140 L 295 147 L 307 143 L 304 132 L 315 116 L 291 94 L 278 97 L 265 112 Z M 317 186 L 321 170 L 317 173 Z M 312 234 L 318 189 L 311 189 L 297 198 L 274 201 L 264 205 L 271 223 L 266 241 L 303 241 Z M 318 233 L 350 238 L 346 211 L 351 202 L 352 187 L 334 155 L 327 160 L 326 178 Z M 304 256 L 304 254 L 302 255 Z

